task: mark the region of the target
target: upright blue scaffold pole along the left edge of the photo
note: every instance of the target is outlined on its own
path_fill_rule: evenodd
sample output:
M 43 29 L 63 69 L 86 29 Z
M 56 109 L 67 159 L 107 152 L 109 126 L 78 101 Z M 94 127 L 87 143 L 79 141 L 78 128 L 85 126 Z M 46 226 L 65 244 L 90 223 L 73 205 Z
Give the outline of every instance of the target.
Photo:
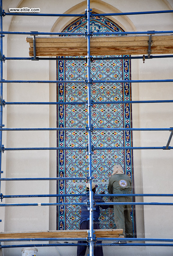
M 2 30 L 2 0 L 0 1 L 1 3 L 1 15 L 0 15 L 0 30 L 1 32 Z M 2 54 L 2 34 L 0 35 L 0 52 L 1 52 L 1 57 L 3 56 Z M 0 79 L 2 80 L 2 76 L 3 76 L 3 69 L 2 69 L 2 58 L 0 60 Z M 0 128 L 2 128 L 2 87 L 3 87 L 3 83 L 0 83 Z M 2 130 L 0 131 L 0 178 L 1 178 L 1 162 L 2 162 Z M 0 181 L 0 193 L 1 193 L 1 181 Z

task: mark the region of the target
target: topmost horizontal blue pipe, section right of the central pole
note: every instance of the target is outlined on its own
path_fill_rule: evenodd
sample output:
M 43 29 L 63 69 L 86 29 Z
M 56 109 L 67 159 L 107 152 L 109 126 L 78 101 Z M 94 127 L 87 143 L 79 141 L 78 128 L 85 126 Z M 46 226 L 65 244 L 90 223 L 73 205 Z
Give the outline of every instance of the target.
M 156 13 L 172 13 L 173 10 L 165 10 L 165 11 L 149 11 L 149 12 L 130 12 L 130 13 L 102 13 L 96 14 L 92 13 L 92 17 L 96 16 L 120 16 L 120 15 L 140 15 L 140 14 L 156 14 Z

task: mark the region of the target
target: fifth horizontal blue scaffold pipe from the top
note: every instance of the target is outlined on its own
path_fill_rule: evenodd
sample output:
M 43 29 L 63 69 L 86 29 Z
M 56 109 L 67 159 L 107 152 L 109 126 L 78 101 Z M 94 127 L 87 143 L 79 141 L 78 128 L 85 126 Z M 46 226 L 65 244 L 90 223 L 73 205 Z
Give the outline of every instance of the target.
M 165 103 L 173 100 L 96 101 L 93 104 Z M 5 102 L 5 105 L 85 105 L 86 102 Z

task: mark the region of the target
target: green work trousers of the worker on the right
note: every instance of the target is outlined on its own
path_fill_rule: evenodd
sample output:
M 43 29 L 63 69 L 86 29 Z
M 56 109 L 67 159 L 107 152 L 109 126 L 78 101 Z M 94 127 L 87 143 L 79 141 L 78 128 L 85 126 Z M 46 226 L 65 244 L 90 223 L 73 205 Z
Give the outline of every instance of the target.
M 115 197 L 114 202 L 132 202 L 131 197 Z M 133 237 L 133 224 L 130 216 L 131 205 L 114 205 L 114 219 L 117 229 L 123 229 L 123 235 Z

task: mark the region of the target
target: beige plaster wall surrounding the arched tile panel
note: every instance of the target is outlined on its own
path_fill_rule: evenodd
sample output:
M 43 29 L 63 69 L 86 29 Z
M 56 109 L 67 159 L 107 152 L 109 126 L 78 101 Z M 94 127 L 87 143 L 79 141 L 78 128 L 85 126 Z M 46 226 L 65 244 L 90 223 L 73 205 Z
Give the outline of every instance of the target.
M 91 8 L 99 13 L 154 11 L 173 8 L 171 1 L 91 1 Z M 9 7 L 38 7 L 41 13 L 84 13 L 86 1 L 3 1 Z M 156 8 L 157 7 L 157 8 Z M 130 15 L 110 17 L 125 31 L 173 30 L 173 14 Z M 75 18 L 74 18 L 75 19 Z M 68 17 L 6 16 L 3 30 L 59 32 L 74 19 Z M 29 44 L 25 35 L 5 35 L 6 57 L 28 57 Z M 139 53 L 140 54 L 140 53 Z M 132 60 L 132 79 L 172 79 L 172 59 L 152 59 L 145 63 Z M 56 80 L 56 61 L 5 61 L 4 79 Z M 4 84 L 5 101 L 56 101 L 56 84 Z M 133 83 L 132 100 L 172 99 L 172 83 Z M 134 128 L 172 127 L 172 104 L 133 104 Z M 56 127 L 56 106 L 19 105 L 3 109 L 5 127 Z M 133 132 L 133 146 L 165 146 L 170 132 Z M 56 147 L 56 132 L 23 131 L 3 133 L 4 147 Z M 173 143 L 171 143 L 171 146 Z M 135 193 L 172 193 L 172 150 L 134 150 Z M 55 177 L 56 150 L 8 151 L 2 155 L 2 177 Z M 4 195 L 56 194 L 56 181 L 2 182 Z M 136 202 L 172 202 L 168 197 L 136 197 Z M 3 203 L 56 202 L 55 198 L 12 198 Z M 172 238 L 172 206 L 137 206 L 138 237 Z M 2 208 L 1 208 L 2 209 Z M 6 207 L 1 210 L 0 231 L 55 230 L 56 206 Z M 166 231 L 166 232 L 165 232 Z M 123 250 L 122 250 L 123 248 Z M 61 255 L 76 255 L 75 247 L 58 247 Z M 104 255 L 114 255 L 115 248 L 104 247 Z M 116 247 L 117 255 L 171 255 L 169 247 Z M 60 255 L 55 247 L 38 248 L 38 255 Z M 166 254 L 165 254 L 166 253 Z M 4 255 L 20 255 L 21 248 L 5 249 Z

